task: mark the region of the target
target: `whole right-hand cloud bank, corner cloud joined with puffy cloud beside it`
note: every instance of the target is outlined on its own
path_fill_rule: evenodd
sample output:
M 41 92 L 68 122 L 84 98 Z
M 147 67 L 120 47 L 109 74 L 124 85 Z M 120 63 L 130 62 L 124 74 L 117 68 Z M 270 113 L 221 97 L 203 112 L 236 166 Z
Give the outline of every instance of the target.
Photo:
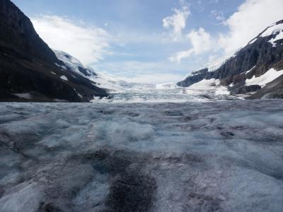
M 214 18 L 224 20 L 223 24 L 228 28 L 228 32 L 212 36 L 203 28 L 197 31 L 192 30 L 187 35 L 192 48 L 177 52 L 169 59 L 180 63 L 182 59 L 200 55 L 212 49 L 220 50 L 224 55 L 231 55 L 246 46 L 267 26 L 282 20 L 282 8 L 282 0 L 246 0 L 227 20 L 224 20 L 222 13 L 212 11 Z

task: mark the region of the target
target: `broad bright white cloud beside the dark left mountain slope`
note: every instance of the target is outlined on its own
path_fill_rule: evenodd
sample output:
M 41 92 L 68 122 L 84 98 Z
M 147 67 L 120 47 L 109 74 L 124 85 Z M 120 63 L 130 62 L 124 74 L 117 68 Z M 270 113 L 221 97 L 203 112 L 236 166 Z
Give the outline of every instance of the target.
M 102 28 L 76 25 L 59 16 L 32 18 L 37 33 L 53 49 L 59 49 L 78 58 L 85 64 L 103 59 L 111 54 L 111 37 Z

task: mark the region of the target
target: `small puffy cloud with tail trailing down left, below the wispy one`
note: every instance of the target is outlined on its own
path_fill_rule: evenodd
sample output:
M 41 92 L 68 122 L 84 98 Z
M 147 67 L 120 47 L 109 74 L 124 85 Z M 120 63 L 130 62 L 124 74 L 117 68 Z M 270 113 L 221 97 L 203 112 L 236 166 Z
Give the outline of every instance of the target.
M 212 38 L 204 28 L 200 28 L 197 31 L 192 30 L 187 35 L 187 38 L 190 40 L 192 48 L 173 54 L 173 56 L 169 58 L 170 61 L 180 63 L 182 59 L 190 57 L 192 54 L 198 55 L 212 49 Z

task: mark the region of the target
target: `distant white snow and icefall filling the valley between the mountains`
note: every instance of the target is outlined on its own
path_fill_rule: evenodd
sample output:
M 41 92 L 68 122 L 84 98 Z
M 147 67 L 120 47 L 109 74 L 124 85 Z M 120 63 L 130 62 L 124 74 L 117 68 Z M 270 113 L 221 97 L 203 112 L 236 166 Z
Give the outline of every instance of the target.
M 94 86 L 107 89 L 112 95 L 112 98 L 93 98 L 91 102 L 204 102 L 243 98 L 243 96 L 230 96 L 229 91 L 219 85 L 209 86 L 214 82 L 208 82 L 208 84 L 200 82 L 204 84 L 199 85 L 200 88 L 195 88 L 195 86 L 194 88 L 180 88 L 176 83 L 154 85 L 121 81 L 105 73 L 96 73 L 93 69 L 84 66 L 78 59 L 65 52 L 56 50 L 54 52 L 58 59 L 62 60 L 71 71 L 88 78 L 93 82 Z

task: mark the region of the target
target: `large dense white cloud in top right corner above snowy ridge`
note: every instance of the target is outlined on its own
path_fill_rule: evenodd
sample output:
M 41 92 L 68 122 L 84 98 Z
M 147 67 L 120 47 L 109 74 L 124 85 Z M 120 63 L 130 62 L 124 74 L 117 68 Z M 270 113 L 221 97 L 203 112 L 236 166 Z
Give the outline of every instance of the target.
M 268 25 L 283 18 L 282 0 L 246 0 L 236 13 L 226 20 L 229 33 L 221 34 L 219 46 L 231 53 L 248 44 Z

